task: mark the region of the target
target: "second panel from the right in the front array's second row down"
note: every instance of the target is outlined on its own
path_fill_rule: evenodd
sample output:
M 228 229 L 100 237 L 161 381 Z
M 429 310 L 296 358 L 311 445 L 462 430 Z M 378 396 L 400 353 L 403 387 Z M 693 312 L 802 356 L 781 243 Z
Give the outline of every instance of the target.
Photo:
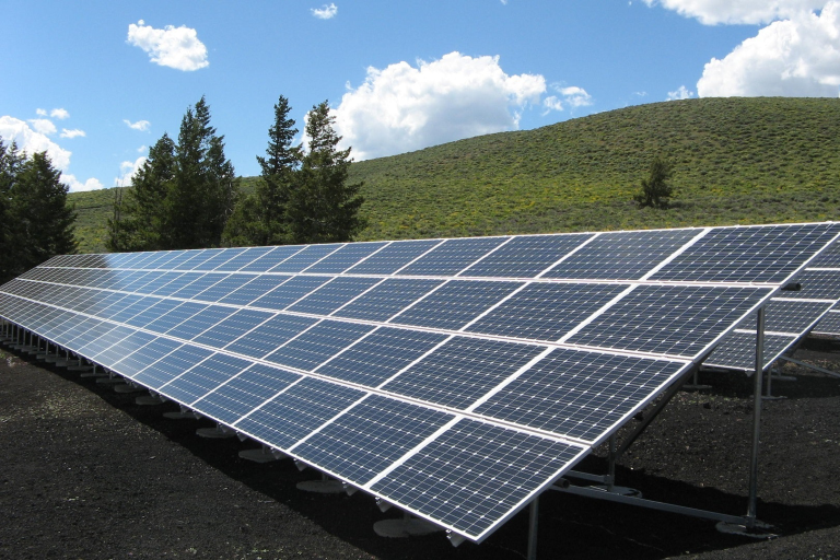
M 467 327 L 534 340 L 558 340 L 627 289 L 620 284 L 534 283 Z

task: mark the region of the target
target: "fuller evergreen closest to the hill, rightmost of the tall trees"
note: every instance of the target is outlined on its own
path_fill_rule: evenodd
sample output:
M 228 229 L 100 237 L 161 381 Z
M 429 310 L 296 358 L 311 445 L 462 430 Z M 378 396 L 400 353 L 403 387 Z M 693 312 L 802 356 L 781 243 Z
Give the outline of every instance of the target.
M 338 150 L 329 105 L 315 105 L 307 116 L 308 150 L 303 155 L 294 187 L 289 191 L 288 231 L 293 243 L 330 243 L 352 240 L 364 228 L 359 218 L 362 184 L 348 185 L 350 149 Z

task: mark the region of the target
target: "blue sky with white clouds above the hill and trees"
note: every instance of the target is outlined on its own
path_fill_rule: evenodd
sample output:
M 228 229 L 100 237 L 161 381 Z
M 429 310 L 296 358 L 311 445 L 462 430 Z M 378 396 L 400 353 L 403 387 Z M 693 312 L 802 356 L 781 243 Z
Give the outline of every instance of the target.
M 240 175 L 272 107 L 355 159 L 698 96 L 840 93 L 840 0 L 0 0 L 0 137 L 130 182 L 206 95 Z

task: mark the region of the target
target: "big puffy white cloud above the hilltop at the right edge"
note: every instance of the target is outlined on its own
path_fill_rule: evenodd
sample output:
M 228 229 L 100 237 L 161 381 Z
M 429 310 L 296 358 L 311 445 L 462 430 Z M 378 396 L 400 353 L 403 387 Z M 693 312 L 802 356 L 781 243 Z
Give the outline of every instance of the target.
M 710 96 L 828 96 L 840 93 L 840 1 L 828 2 L 819 15 L 802 14 L 773 22 L 713 58 L 697 82 Z

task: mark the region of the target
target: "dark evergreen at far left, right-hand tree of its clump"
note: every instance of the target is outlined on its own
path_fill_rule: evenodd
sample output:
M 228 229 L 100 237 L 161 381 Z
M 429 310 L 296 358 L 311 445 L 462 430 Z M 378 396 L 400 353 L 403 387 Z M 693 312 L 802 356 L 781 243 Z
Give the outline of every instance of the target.
M 20 167 L 10 200 L 15 276 L 55 255 L 75 253 L 75 211 L 67 206 L 69 187 L 60 176 L 46 152 L 36 152 Z

